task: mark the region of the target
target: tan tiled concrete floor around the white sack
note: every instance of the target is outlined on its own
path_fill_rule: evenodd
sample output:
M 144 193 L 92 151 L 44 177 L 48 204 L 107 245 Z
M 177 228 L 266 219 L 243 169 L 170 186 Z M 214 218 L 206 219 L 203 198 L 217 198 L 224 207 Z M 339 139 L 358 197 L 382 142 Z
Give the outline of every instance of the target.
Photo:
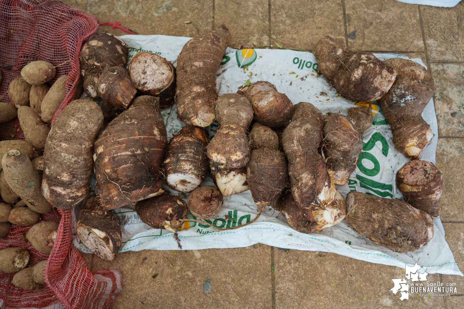
M 311 50 L 330 35 L 347 48 L 421 57 L 435 78 L 437 166 L 445 176 L 441 202 L 446 239 L 464 269 L 464 3 L 438 8 L 394 0 L 64 0 L 139 34 L 195 36 L 225 23 L 231 47 L 278 45 Z M 185 24 L 185 21 L 191 21 Z M 104 26 L 99 29 L 110 30 Z M 122 293 L 114 309 L 129 308 L 464 308 L 457 295 L 399 301 L 390 278 L 401 269 L 325 252 L 289 252 L 255 245 L 202 251 L 122 253 L 109 263 L 84 254 L 92 271 L 119 269 Z M 271 265 L 275 271 L 271 272 Z M 159 273 L 155 279 L 154 273 Z M 211 292 L 203 284 L 211 280 Z

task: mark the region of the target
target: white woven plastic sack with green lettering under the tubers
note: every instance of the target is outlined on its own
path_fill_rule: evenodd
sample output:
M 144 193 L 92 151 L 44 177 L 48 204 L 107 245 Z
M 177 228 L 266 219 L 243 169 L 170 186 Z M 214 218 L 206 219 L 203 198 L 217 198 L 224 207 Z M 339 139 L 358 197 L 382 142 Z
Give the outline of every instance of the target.
M 189 38 L 161 35 L 126 35 L 122 39 L 131 47 L 129 57 L 140 51 L 156 52 L 172 62 L 174 66 L 177 64 L 177 56 L 182 46 L 189 40 Z M 376 56 L 381 60 L 392 57 L 407 58 L 393 54 L 376 54 Z M 412 60 L 424 65 L 420 59 Z M 219 95 L 223 95 L 236 92 L 237 88 L 245 83 L 264 80 L 273 83 L 277 90 L 285 93 L 294 104 L 305 101 L 314 104 L 323 114 L 329 111 L 341 111 L 342 114 L 347 115 L 348 108 L 353 107 L 354 102 L 337 94 L 322 76 L 317 76 L 316 69 L 316 59 L 309 52 L 228 48 L 216 73 L 217 90 Z M 357 103 L 358 106 L 362 104 L 365 103 Z M 343 196 L 346 196 L 350 190 L 356 190 L 384 197 L 402 198 L 401 192 L 396 188 L 395 175 L 409 159 L 394 148 L 390 126 L 380 106 L 374 105 L 373 108 L 374 125 L 363 133 L 362 158 L 349 183 L 345 186 L 337 186 L 337 189 Z M 184 124 L 177 119 L 175 105 L 161 111 L 161 114 L 165 119 L 168 139 L 170 139 Z M 420 159 L 435 163 L 438 126 L 432 100 L 425 108 L 423 118 L 431 125 L 435 137 L 422 152 Z M 213 123 L 206 128 L 211 137 L 216 127 L 217 124 Z M 214 185 L 214 183 L 208 177 L 202 185 Z M 187 201 L 188 194 L 180 194 L 166 184 L 164 189 L 169 194 L 181 195 Z M 121 207 L 113 211 L 122 223 L 121 252 L 179 249 L 173 233 L 144 224 L 135 213 L 133 206 Z M 78 209 L 75 210 L 76 219 L 79 212 Z M 245 191 L 224 197 L 224 208 L 216 219 L 209 222 L 216 227 L 234 227 L 251 221 L 257 214 L 257 206 L 253 202 L 250 191 Z M 192 214 L 189 213 L 188 218 L 193 218 Z M 413 265 L 420 260 L 420 265 L 427 268 L 429 273 L 462 275 L 445 241 L 445 233 L 439 218 L 435 220 L 433 239 L 419 250 L 403 254 L 388 250 L 355 233 L 344 221 L 320 233 L 299 233 L 271 207 L 267 207 L 252 224 L 224 232 L 195 221 L 187 222 L 183 230 L 178 233 L 182 249 L 187 250 L 244 247 L 260 242 L 289 249 L 335 252 L 354 259 L 402 268 L 405 267 L 405 263 Z M 83 252 L 89 252 L 76 235 L 73 235 L 73 245 Z

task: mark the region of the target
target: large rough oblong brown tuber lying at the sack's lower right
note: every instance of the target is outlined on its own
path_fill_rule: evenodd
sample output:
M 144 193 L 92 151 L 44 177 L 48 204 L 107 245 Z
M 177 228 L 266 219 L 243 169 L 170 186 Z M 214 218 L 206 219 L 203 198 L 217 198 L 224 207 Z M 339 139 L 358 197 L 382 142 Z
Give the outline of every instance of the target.
M 406 202 L 350 191 L 345 221 L 355 232 L 394 252 L 425 246 L 433 237 L 433 220 Z

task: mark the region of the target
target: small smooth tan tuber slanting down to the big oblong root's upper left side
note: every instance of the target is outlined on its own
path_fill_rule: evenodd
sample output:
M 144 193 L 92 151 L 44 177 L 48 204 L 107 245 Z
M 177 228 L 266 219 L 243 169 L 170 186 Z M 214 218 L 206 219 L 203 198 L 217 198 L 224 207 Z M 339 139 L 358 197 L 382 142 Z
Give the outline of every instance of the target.
M 20 106 L 18 108 L 18 119 L 26 142 L 31 144 L 37 151 L 44 150 L 50 127 L 42 122 L 39 114 L 29 106 Z

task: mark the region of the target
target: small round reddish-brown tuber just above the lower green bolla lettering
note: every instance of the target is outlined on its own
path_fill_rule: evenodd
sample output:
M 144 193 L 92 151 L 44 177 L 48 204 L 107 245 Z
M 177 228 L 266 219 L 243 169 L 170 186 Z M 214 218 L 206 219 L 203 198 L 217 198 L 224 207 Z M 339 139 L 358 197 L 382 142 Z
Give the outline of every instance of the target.
M 188 210 L 197 218 L 214 219 L 222 210 L 224 197 L 218 188 L 213 186 L 200 187 L 188 196 Z

